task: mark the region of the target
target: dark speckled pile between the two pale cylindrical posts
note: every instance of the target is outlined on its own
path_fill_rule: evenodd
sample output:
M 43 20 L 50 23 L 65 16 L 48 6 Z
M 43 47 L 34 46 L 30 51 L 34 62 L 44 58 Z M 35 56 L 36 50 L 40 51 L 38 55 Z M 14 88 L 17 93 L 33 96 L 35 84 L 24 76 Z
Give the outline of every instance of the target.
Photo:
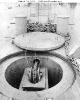
M 52 24 L 50 22 L 47 22 L 45 24 L 39 23 L 39 22 L 31 22 L 30 20 L 27 20 L 27 32 L 51 32 L 56 33 L 56 24 Z

